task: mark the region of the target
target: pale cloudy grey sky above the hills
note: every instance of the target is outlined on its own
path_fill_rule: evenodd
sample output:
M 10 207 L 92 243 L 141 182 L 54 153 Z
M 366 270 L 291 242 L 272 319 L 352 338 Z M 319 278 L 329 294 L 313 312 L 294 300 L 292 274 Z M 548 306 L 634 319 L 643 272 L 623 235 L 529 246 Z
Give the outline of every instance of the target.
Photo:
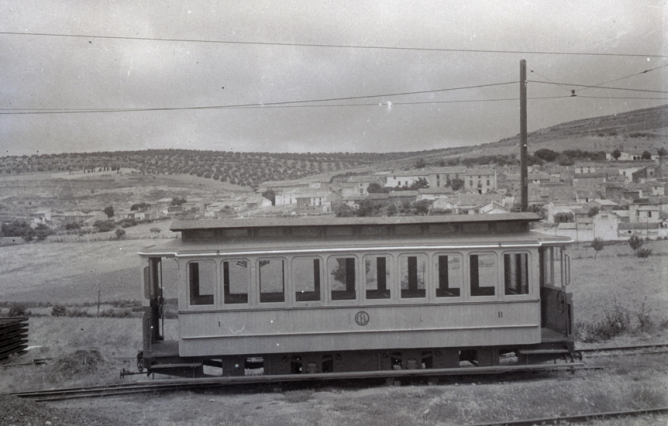
M 529 131 L 668 103 L 667 34 L 659 0 L 0 0 L 0 156 L 495 142 L 522 59 Z

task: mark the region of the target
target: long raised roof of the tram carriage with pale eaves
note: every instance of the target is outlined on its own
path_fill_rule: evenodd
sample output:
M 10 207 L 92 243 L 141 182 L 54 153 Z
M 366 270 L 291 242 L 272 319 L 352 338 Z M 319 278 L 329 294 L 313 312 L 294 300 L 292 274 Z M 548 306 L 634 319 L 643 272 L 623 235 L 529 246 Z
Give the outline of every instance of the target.
M 568 238 L 529 230 L 533 213 L 413 217 L 299 217 L 175 221 L 182 238 L 142 255 L 379 251 L 456 247 L 537 247 Z

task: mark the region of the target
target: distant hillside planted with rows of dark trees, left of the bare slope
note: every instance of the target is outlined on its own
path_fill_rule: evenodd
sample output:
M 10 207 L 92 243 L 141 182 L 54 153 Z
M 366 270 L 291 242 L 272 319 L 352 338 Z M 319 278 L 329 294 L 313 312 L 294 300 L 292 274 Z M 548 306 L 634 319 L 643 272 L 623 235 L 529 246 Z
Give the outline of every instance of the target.
M 410 158 L 465 152 L 450 148 L 395 153 L 262 153 L 184 149 L 43 154 L 0 158 L 0 175 L 36 172 L 100 173 L 120 168 L 139 174 L 193 175 L 233 185 L 257 188 L 261 182 L 333 175 Z M 415 161 L 415 160 L 413 160 Z

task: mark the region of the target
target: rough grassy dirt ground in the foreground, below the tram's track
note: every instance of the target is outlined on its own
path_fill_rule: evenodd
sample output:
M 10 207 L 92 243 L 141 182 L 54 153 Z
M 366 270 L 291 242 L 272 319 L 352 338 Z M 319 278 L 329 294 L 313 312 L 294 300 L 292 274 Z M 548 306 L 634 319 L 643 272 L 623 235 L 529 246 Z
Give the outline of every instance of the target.
M 346 382 L 177 391 L 35 403 L 0 396 L 0 424 L 26 425 L 467 425 L 668 405 L 668 355 L 579 371 L 498 381 L 470 377 L 413 383 Z M 76 369 L 74 370 L 76 371 Z M 668 416 L 594 422 L 666 424 Z M 50 423 L 47 423 L 50 422 Z M 562 423 L 568 424 L 568 423 Z

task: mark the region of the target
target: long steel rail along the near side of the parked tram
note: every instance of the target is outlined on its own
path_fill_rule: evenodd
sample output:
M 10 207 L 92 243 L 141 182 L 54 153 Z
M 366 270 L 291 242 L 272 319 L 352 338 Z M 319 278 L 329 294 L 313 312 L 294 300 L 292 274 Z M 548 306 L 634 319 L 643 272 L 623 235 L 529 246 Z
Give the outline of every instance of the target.
M 511 365 L 493 367 L 464 367 L 420 370 L 387 370 L 324 374 L 286 374 L 269 376 L 238 376 L 218 377 L 206 379 L 182 379 L 160 382 L 140 382 L 123 385 L 92 386 L 83 388 L 51 389 L 34 392 L 18 392 L 13 396 L 30 398 L 37 402 L 61 401 L 77 398 L 97 398 L 105 396 L 119 396 L 141 392 L 159 392 L 168 390 L 193 389 L 212 386 L 235 386 L 245 384 L 269 384 L 324 380 L 353 380 L 353 379 L 401 379 L 417 377 L 439 376 L 466 376 L 466 375 L 499 375 L 507 373 L 526 373 L 558 370 L 581 370 L 586 367 L 582 363 L 550 364 L 550 365 Z

